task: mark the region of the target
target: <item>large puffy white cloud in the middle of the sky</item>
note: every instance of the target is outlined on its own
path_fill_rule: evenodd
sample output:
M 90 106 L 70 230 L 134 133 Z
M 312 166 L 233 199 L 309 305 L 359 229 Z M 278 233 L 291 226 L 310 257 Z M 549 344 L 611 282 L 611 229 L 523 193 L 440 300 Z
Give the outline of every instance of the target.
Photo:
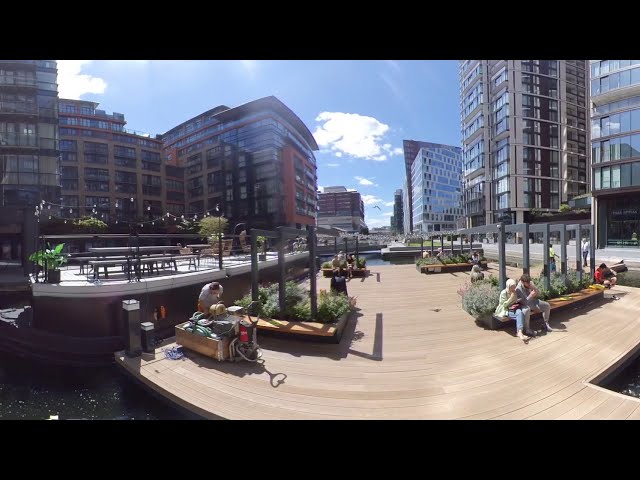
M 322 123 L 313 134 L 318 145 L 329 147 L 337 157 L 347 154 L 383 162 L 389 156 L 398 155 L 398 150 L 402 152 L 402 149 L 383 143 L 389 125 L 373 117 L 357 113 L 322 112 L 316 121 Z

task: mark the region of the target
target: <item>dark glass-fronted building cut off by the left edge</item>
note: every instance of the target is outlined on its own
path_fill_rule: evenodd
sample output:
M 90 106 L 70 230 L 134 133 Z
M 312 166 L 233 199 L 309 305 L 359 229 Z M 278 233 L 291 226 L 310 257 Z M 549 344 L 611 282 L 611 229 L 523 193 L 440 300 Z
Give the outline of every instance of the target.
M 0 252 L 35 249 L 35 207 L 60 201 L 58 70 L 52 60 L 0 60 Z

